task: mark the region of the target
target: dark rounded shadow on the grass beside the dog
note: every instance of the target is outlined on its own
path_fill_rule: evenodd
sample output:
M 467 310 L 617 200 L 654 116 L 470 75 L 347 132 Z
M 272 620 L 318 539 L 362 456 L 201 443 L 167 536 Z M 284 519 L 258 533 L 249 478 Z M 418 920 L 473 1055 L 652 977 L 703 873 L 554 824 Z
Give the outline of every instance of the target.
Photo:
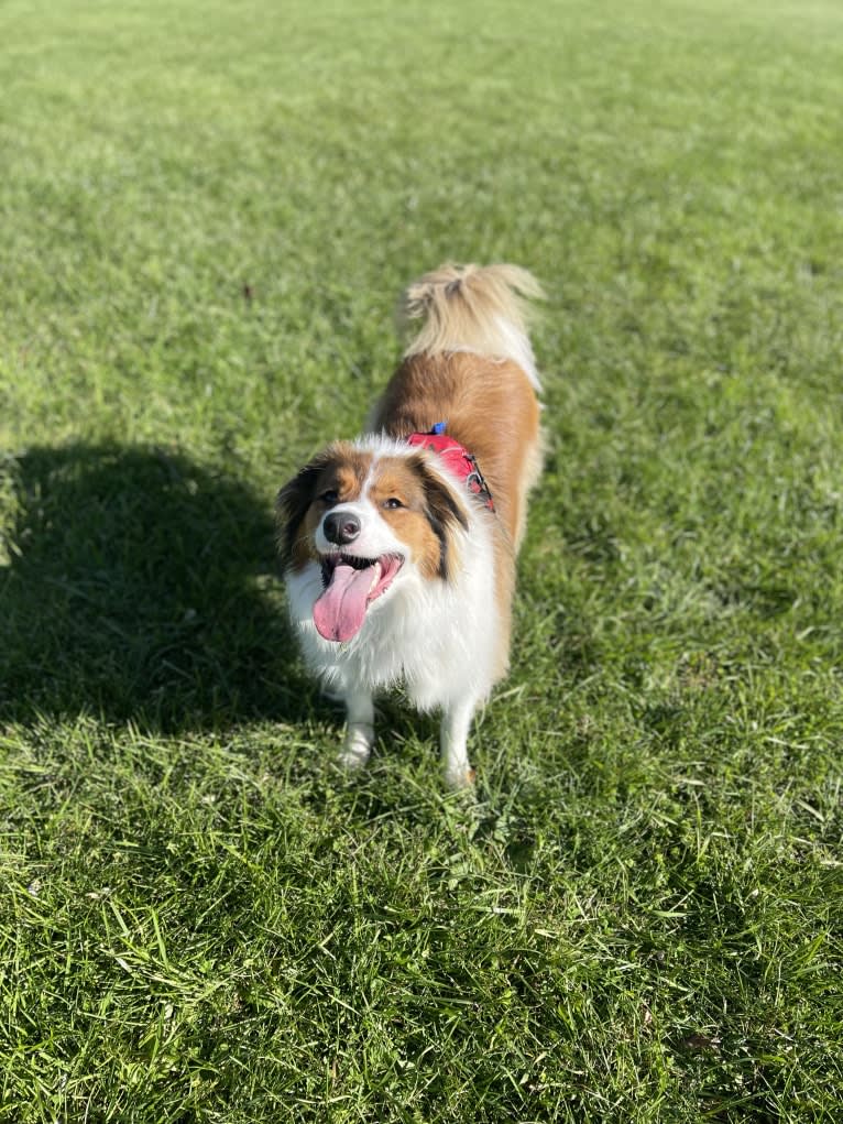
M 244 484 L 146 446 L 35 447 L 2 470 L 0 716 L 176 732 L 320 708 L 271 511 Z

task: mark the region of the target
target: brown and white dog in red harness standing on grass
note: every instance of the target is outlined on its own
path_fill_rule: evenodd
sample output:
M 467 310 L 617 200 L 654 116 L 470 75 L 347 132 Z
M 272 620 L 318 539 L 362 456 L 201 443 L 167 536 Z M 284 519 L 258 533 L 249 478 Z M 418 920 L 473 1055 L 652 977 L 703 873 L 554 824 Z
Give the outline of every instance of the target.
M 290 615 L 310 669 L 339 695 L 339 761 L 364 764 L 374 697 L 402 685 L 439 710 L 452 788 L 471 786 L 475 709 L 507 672 L 515 564 L 542 465 L 527 335 L 536 280 L 515 265 L 443 265 L 404 297 L 415 336 L 363 436 L 336 441 L 278 496 Z

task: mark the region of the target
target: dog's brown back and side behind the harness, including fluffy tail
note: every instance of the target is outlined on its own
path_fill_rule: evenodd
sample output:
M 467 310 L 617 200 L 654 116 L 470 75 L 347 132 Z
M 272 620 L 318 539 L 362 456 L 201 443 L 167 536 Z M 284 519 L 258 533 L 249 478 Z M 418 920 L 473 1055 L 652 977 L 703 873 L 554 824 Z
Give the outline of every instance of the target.
M 422 328 L 371 419 L 374 432 L 398 438 L 446 423 L 477 457 L 516 550 L 542 459 L 525 299 L 538 296 L 515 265 L 443 265 L 411 284 L 402 312 Z

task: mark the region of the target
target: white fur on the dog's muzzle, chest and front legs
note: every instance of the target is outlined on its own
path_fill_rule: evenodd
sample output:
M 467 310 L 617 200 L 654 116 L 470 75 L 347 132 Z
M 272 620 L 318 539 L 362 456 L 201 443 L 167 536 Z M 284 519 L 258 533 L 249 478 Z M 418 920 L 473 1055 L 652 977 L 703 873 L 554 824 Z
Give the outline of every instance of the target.
M 418 455 L 381 436 L 361 438 L 357 447 Z M 450 488 L 457 486 L 429 465 Z M 400 552 L 405 562 L 392 584 L 366 610 L 360 632 L 345 644 L 324 640 L 314 625 L 314 604 L 323 593 L 321 569 L 309 563 L 289 571 L 287 587 L 290 614 L 305 659 L 326 687 L 342 695 L 347 708 L 347 732 L 341 753 L 346 765 L 363 764 L 373 741 L 373 703 L 378 691 L 402 685 L 410 701 L 423 711 L 441 709 L 442 753 L 445 776 L 453 787 L 470 780 L 466 738 L 471 716 L 491 690 L 499 650 L 500 622 L 493 610 L 493 519 L 486 509 L 461 501 L 469 509 L 469 528 L 460 532 L 460 565 L 450 581 L 425 578 L 365 496 L 333 510 L 353 511 L 362 531 L 345 551 L 365 558 Z M 317 549 L 333 550 L 317 529 Z

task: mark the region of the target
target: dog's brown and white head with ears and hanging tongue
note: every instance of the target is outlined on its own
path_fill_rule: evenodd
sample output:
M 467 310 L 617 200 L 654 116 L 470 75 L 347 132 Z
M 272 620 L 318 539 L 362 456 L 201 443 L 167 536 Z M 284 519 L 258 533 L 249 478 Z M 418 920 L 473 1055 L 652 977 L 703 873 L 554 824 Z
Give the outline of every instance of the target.
M 410 575 L 447 581 L 456 536 L 468 527 L 462 499 L 425 454 L 345 442 L 281 489 L 278 515 L 284 568 L 320 568 L 314 624 L 338 642 L 355 636 L 371 607 Z

